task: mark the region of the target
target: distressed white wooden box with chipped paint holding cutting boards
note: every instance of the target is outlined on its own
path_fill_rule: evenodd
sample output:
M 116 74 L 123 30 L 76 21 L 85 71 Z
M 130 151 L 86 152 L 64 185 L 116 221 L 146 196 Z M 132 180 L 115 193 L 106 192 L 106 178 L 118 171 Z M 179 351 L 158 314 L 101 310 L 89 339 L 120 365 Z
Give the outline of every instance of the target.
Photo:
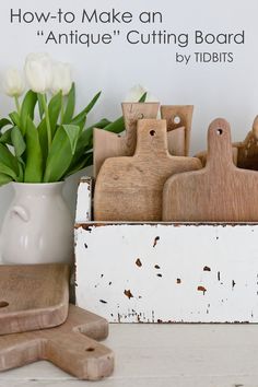
M 78 190 L 77 303 L 110 322 L 258 322 L 258 224 L 91 222 Z

